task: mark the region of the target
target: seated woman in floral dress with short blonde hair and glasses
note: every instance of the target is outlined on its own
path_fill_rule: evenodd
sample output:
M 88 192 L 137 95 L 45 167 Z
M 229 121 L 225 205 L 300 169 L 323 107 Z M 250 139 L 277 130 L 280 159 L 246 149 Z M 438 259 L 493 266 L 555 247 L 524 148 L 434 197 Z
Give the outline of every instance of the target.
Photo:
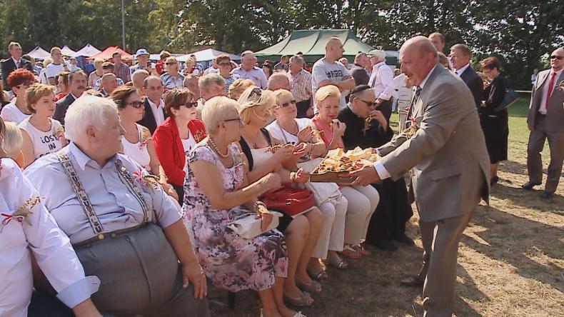
M 202 119 L 208 138 L 191 151 L 182 209 L 206 276 L 228 291 L 258 291 L 263 316 L 301 316 L 283 303 L 288 257 L 282 233 L 274 229 L 247 239 L 227 227 L 250 211 L 262 218 L 263 229 L 268 227 L 273 216 L 256 196 L 279 186 L 280 178 L 268 174 L 246 183 L 241 152 L 233 144 L 241 136 L 236 101 L 211 99 Z

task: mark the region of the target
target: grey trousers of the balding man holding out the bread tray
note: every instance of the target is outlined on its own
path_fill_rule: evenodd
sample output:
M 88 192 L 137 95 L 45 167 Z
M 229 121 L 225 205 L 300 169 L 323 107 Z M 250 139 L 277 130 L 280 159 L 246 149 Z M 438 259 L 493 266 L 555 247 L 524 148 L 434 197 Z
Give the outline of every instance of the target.
M 483 176 L 476 165 L 476 181 L 482 183 Z M 481 189 L 473 186 L 475 203 L 461 216 L 438 221 L 419 221 L 423 243 L 423 267 L 418 278 L 423 285 L 423 306 L 425 317 L 452 316 L 456 290 L 456 266 L 458 243 L 476 206 L 480 202 Z

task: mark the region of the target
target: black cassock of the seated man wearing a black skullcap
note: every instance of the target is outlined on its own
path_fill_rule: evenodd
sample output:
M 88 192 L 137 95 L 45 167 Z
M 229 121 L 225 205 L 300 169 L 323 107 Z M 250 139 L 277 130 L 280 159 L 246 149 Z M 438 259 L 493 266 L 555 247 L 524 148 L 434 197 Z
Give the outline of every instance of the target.
M 346 124 L 343 135 L 346 150 L 354 149 L 356 146 L 361 149 L 378 148 L 392 139 L 392 129 L 383 131 L 376 120 L 372 121 L 365 134 L 364 119 L 356 116 L 348 106 L 339 112 L 338 119 Z M 406 231 L 406 221 L 413 216 L 413 210 L 408 203 L 406 181 L 403 178 L 398 181 L 388 178 L 372 186 L 380 194 L 380 202 L 368 225 L 366 242 L 373 244 L 401 237 Z

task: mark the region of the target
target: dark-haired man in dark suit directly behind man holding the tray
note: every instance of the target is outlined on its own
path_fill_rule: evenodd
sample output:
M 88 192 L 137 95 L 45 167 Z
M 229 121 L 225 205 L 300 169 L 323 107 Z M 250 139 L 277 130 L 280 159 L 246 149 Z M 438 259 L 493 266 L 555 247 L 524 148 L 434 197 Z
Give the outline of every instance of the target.
M 456 74 L 460 76 L 472 92 L 476 108 L 479 109 L 483 100 L 484 84 L 480 76 L 470 66 L 471 58 L 472 52 L 465 44 L 455 44 L 450 48 L 450 62 L 453 64 Z

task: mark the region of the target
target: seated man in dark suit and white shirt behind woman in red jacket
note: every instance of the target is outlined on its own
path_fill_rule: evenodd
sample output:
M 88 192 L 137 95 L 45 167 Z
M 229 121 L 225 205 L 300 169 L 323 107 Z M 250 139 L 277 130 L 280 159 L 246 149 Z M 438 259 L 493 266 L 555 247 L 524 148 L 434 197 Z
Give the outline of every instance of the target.
M 163 82 L 157 76 L 148 76 L 143 81 L 143 88 L 141 89 L 146 98 L 143 100 L 145 109 L 145 116 L 137 123 L 145 126 L 148 131 L 153 134 L 156 127 L 162 124 L 164 119 L 168 117 L 164 110 L 163 102 Z

